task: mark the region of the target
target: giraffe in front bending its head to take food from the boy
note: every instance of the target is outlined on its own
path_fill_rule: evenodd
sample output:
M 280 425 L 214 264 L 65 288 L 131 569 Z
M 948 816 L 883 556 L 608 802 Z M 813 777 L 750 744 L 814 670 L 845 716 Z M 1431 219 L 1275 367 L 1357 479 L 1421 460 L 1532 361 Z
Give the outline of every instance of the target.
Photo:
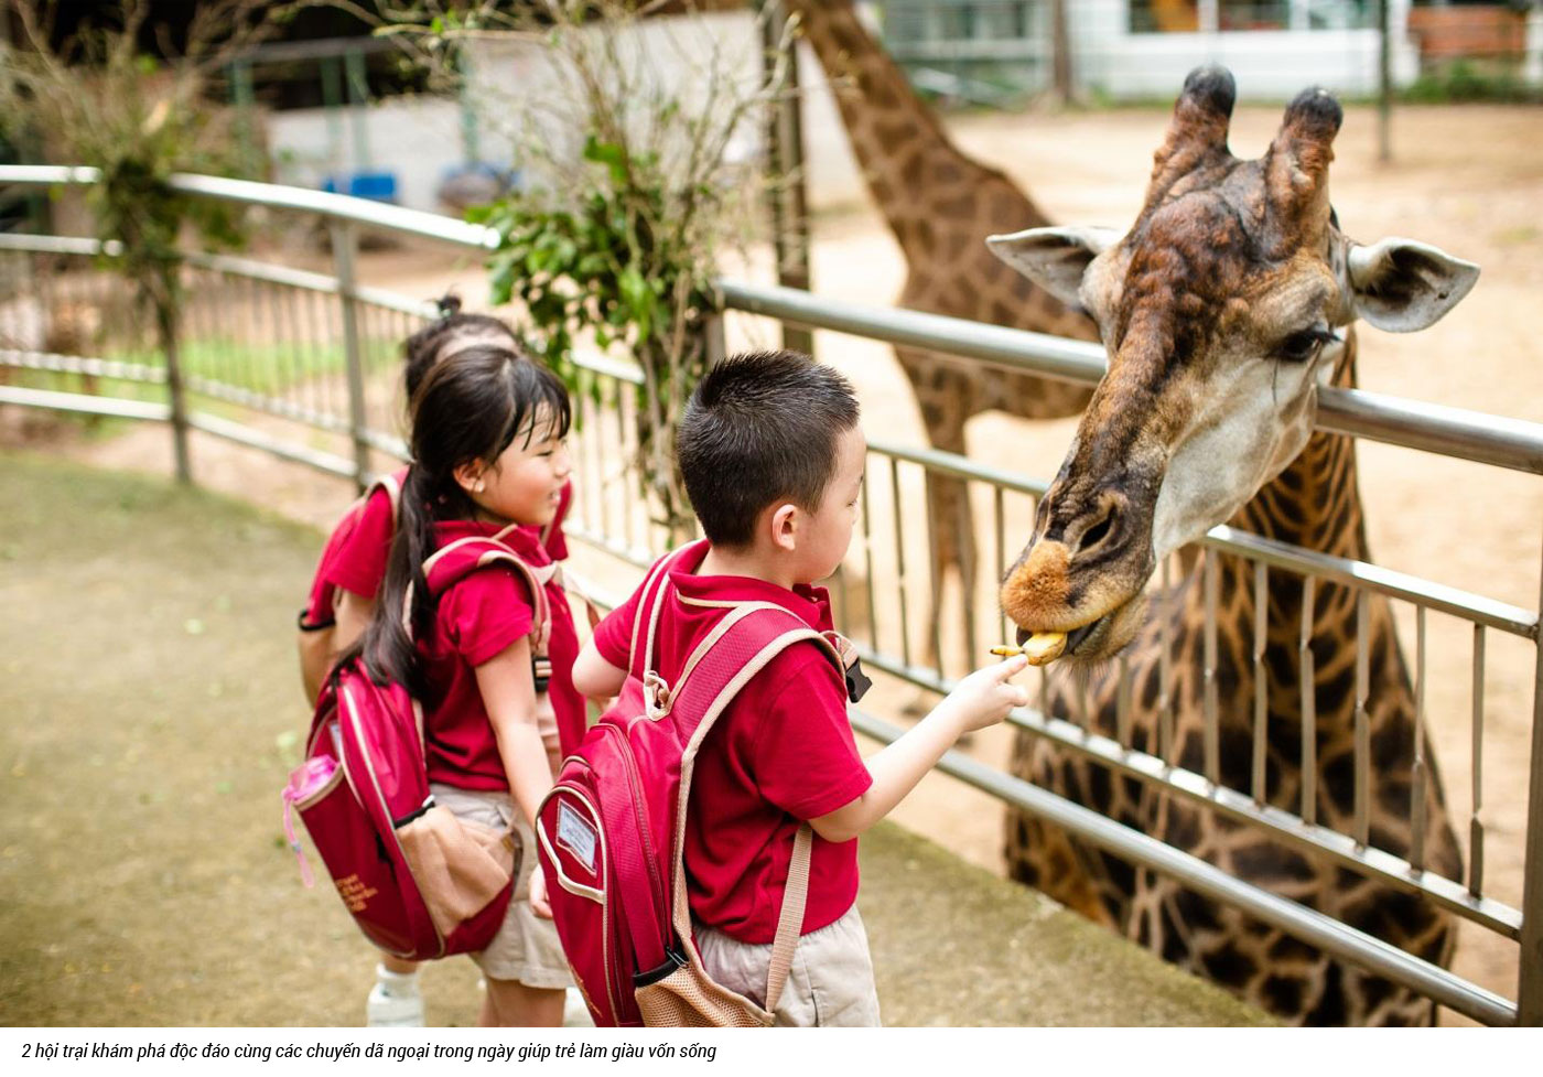
M 1068 630 L 1071 680 L 1083 680 L 1089 727 L 1117 736 L 1119 677 L 1108 659 L 1131 647 L 1129 741 L 1157 753 L 1159 701 L 1174 708 L 1173 756 L 1204 771 L 1205 599 L 1193 574 L 1157 594 L 1154 568 L 1211 526 L 1367 560 L 1350 438 L 1315 434 L 1319 384 L 1355 386 L 1355 335 L 1364 318 L 1395 332 L 1424 329 L 1474 285 L 1478 267 L 1426 244 L 1362 247 L 1341 230 L 1327 168 L 1342 111 L 1310 89 L 1285 110 L 1258 160 L 1227 147 L 1236 99 L 1230 73 L 1199 68 L 1185 80 L 1145 207 L 1125 236 L 1040 228 L 988 244 L 1063 299 L 1080 298 L 1109 355 L 1071 449 L 1008 571 L 1003 609 L 1025 630 Z M 1210 554 L 1207 554 L 1210 555 Z M 1197 555 L 1179 554 L 1193 566 Z M 1248 788 L 1254 705 L 1251 566 L 1216 565 L 1216 764 L 1219 782 Z M 1387 602 L 1367 596 L 1372 773 L 1364 809 L 1372 846 L 1409 856 L 1412 815 L 1423 863 L 1461 878 L 1429 739 Z M 1353 833 L 1356 606 L 1324 583 L 1312 608 L 1301 579 L 1273 572 L 1265 591 L 1265 799 L 1296 812 L 1302 770 L 1302 685 L 1312 688 L 1315 785 L 1310 809 Z M 1298 626 L 1312 623 L 1308 653 Z M 1173 680 L 1162 684 L 1171 640 Z M 1075 676 L 1080 673 L 1080 677 Z M 1052 677 L 1051 713 L 1080 716 L 1077 685 Z M 1416 741 L 1424 776 L 1412 781 Z M 1015 773 L 1275 893 L 1447 964 L 1455 927 L 1432 903 L 1271 842 L 1194 801 L 1069 758 L 1020 734 Z M 1012 873 L 1167 958 L 1227 984 L 1293 1023 L 1430 1023 L 1426 998 L 1182 884 L 1137 869 L 1026 816 L 1008 821 Z

